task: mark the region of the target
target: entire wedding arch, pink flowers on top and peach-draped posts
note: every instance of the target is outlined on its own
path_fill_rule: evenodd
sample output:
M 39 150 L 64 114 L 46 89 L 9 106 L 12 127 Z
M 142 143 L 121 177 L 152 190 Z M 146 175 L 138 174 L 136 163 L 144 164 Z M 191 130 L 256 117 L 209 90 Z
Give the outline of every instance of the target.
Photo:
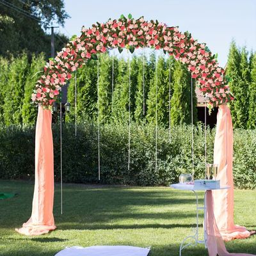
M 220 118 L 216 127 L 216 148 L 214 145 L 214 152 L 216 150 L 218 154 L 216 157 L 214 156 L 214 161 L 220 164 L 221 172 L 225 172 L 223 175 L 226 177 L 225 179 L 232 177 L 233 131 L 230 110 L 226 103 L 233 100 L 234 97 L 230 93 L 228 79 L 224 75 L 225 71 L 219 67 L 216 56 L 212 55 L 205 44 L 198 43 L 188 32 L 180 33 L 177 27 L 168 27 L 157 20 L 148 22 L 143 17 L 136 20 L 132 19 L 131 15 L 128 18 L 122 15 L 118 20 L 108 20 L 102 24 L 97 22 L 92 25 L 92 28 L 82 28 L 81 36 L 71 40 L 67 47 L 58 52 L 55 59 L 49 60 L 44 67 L 44 75 L 36 83 L 32 100 L 40 108 L 38 108 L 36 122 L 33 208 L 31 218 L 23 224 L 22 228 L 17 229 L 17 232 L 32 236 L 45 234 L 56 228 L 52 213 L 54 157 L 51 108 L 53 102 L 60 101 L 61 86 L 67 84 L 72 77 L 72 72 L 81 67 L 84 61 L 97 60 L 97 54 L 100 52 L 114 48 L 118 48 L 120 52 L 124 48 L 134 52 L 134 49 L 143 47 L 163 49 L 164 53 L 168 53 L 184 63 L 191 72 L 191 76 L 197 79 L 200 91 L 207 95 L 209 108 L 222 105 L 219 108 Z M 227 141 L 230 141 L 230 145 L 224 147 L 227 145 Z M 223 180 L 223 182 L 227 182 L 233 189 L 231 178 Z M 230 230 L 234 230 L 232 224 L 234 222 L 234 204 L 232 203 L 234 193 L 232 189 L 228 189 L 230 193 L 228 191 L 223 193 L 218 201 L 220 204 L 216 204 L 225 206 L 225 214 L 221 211 L 221 216 L 228 216 L 228 223 L 231 223 Z

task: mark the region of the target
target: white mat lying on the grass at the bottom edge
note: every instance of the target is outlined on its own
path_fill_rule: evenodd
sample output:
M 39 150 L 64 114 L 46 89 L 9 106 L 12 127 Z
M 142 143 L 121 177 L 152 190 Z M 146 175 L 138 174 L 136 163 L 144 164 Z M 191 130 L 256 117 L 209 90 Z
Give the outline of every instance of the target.
M 72 246 L 55 256 L 147 256 L 150 249 L 134 246 Z

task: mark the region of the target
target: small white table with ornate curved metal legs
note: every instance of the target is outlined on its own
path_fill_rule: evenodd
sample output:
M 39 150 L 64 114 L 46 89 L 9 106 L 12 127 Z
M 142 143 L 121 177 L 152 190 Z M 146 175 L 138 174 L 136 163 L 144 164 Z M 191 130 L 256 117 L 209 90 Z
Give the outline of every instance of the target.
M 207 188 L 207 186 L 203 187 L 203 186 L 195 186 L 195 185 L 186 185 L 186 184 L 172 184 L 170 185 L 170 188 L 174 188 L 174 189 L 179 189 L 179 190 L 188 190 L 188 191 L 192 191 L 195 196 L 196 196 L 196 230 L 195 230 L 195 234 L 191 235 L 191 236 L 187 236 L 183 239 L 182 243 L 180 244 L 180 256 L 181 256 L 181 252 L 184 248 L 188 247 L 189 245 L 193 245 L 195 246 L 196 244 L 204 244 L 205 248 L 207 248 L 206 245 L 206 241 L 207 241 L 207 232 L 206 232 L 206 221 L 207 221 L 207 216 L 206 216 L 206 209 L 207 209 L 207 204 L 206 204 L 206 191 L 207 190 L 217 190 L 217 189 L 229 189 L 230 186 L 221 186 L 220 188 Z M 196 191 L 205 191 L 204 193 L 204 206 L 203 207 L 199 207 L 198 206 L 198 193 Z M 204 211 L 204 240 L 200 241 L 198 239 L 198 210 L 203 210 Z M 195 243 L 186 243 L 185 242 L 188 239 L 193 239 L 195 241 Z

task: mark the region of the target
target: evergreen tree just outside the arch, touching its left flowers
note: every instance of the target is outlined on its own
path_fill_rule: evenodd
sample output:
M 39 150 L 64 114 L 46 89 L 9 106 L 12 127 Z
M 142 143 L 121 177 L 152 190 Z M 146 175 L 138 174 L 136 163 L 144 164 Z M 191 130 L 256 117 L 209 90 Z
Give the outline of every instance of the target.
M 31 104 L 31 93 L 35 89 L 36 81 L 42 76 L 42 70 L 45 64 L 44 54 L 35 56 L 33 54 L 28 73 L 26 75 L 26 81 L 24 84 L 24 100 L 22 104 L 22 122 L 23 124 L 35 124 L 37 108 Z

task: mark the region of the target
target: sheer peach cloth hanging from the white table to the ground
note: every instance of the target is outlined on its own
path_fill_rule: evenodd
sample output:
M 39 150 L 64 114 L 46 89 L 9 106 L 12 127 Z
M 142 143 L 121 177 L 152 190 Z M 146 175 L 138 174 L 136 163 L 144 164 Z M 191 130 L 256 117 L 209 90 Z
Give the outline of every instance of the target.
M 228 189 L 223 189 L 228 190 Z M 207 232 L 207 249 L 209 256 L 255 256 L 248 253 L 229 253 L 226 250 L 224 241 L 221 237 L 220 231 L 214 218 L 214 200 L 212 198 L 212 191 L 206 192 L 206 232 Z

